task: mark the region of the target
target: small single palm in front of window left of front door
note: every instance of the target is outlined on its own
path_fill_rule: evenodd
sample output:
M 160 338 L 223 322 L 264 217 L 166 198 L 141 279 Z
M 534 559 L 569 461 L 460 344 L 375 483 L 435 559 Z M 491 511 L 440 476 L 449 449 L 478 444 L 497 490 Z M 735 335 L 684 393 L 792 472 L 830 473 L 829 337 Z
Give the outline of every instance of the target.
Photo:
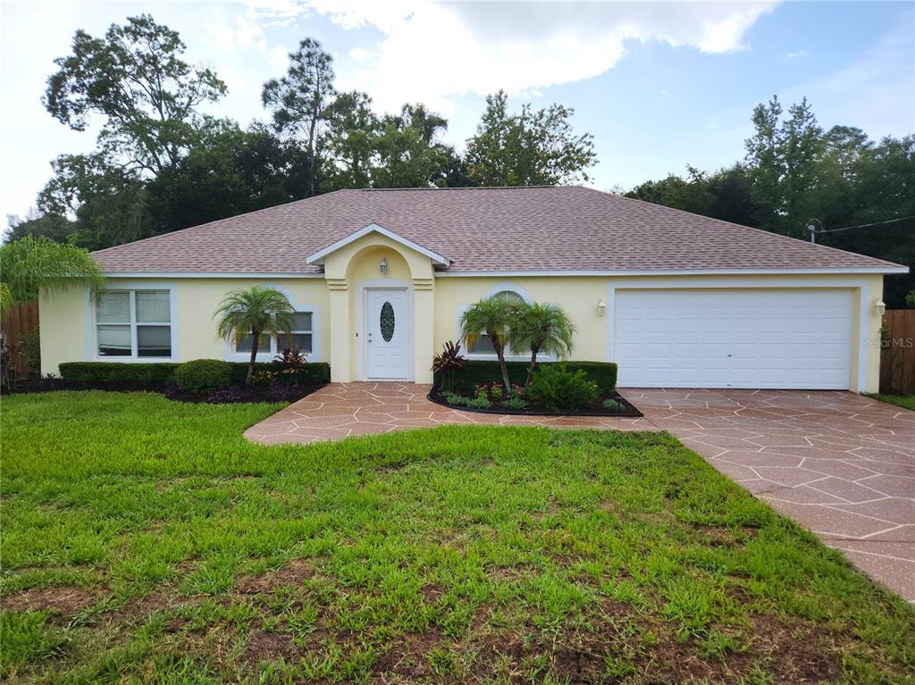
M 238 345 L 242 337 L 252 337 L 251 363 L 248 365 L 245 384 L 251 382 L 261 336 L 264 333 L 269 337 L 279 337 L 280 334 L 289 336 L 293 327 L 293 312 L 285 294 L 266 285 L 233 290 L 222 300 L 213 315 L 214 318 L 220 317 L 217 334 L 230 340 L 233 345 Z

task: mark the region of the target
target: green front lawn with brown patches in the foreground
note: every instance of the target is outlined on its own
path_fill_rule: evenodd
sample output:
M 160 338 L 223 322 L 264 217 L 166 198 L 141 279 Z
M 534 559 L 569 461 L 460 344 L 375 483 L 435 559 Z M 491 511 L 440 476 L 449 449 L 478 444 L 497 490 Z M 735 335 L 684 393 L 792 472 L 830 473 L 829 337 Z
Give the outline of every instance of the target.
M 6 680 L 915 682 L 910 606 L 666 434 L 2 409 Z

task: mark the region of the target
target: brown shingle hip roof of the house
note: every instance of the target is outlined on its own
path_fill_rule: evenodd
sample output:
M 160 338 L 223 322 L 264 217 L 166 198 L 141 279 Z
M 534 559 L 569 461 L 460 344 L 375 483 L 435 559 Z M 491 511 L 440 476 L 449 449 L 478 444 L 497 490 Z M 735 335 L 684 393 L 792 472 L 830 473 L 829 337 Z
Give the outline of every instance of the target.
M 308 255 L 370 223 L 450 272 L 898 267 L 578 186 L 340 190 L 92 254 L 106 272 L 317 273 Z

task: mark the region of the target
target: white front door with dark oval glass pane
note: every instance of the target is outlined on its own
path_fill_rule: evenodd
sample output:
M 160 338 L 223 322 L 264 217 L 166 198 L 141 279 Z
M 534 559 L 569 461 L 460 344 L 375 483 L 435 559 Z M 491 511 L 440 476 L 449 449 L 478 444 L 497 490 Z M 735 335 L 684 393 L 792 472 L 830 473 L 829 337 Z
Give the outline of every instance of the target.
M 410 349 L 406 290 L 367 290 L 365 356 L 370 379 L 406 379 Z

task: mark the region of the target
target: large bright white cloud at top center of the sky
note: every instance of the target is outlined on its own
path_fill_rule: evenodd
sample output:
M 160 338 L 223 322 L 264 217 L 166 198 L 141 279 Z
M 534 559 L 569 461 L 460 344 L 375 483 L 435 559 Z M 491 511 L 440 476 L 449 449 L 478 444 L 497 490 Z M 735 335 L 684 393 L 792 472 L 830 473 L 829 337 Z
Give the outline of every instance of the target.
M 375 27 L 382 40 L 355 48 L 340 86 L 367 91 L 382 110 L 504 89 L 533 92 L 597 76 L 626 41 L 662 41 L 706 53 L 744 49 L 749 27 L 775 3 L 450 3 L 419 0 L 249 0 L 257 16 L 327 16 L 343 28 Z

